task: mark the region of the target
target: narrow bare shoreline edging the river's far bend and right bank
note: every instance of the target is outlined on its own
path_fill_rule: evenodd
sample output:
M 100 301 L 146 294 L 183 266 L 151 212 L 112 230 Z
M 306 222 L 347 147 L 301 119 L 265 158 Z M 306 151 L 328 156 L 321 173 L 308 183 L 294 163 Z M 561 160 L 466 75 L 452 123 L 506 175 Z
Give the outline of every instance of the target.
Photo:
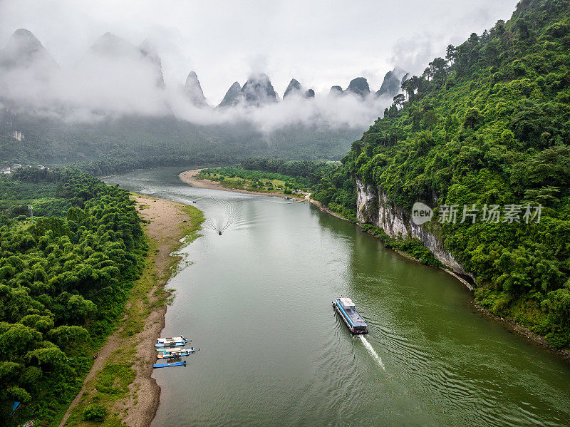
M 196 178 L 194 178 L 193 175 L 199 173 L 200 170 L 201 169 L 187 170 L 178 176 L 179 176 L 180 180 L 182 180 L 183 182 L 186 182 L 187 184 L 195 185 L 196 187 L 209 188 L 212 190 L 224 190 L 224 191 L 230 191 L 230 192 L 247 192 L 249 194 L 257 194 L 257 195 L 278 195 L 278 194 L 269 194 L 269 193 L 264 193 L 264 192 L 254 192 L 254 191 L 249 191 L 249 190 L 233 190 L 231 188 L 223 187 L 219 182 L 216 182 L 216 181 L 197 180 Z M 282 196 L 282 195 L 279 195 L 279 196 Z M 313 200 L 313 199 L 308 198 L 308 197 L 303 199 L 303 200 L 299 200 L 299 202 L 302 202 L 302 201 L 310 202 L 311 204 L 318 207 L 321 210 L 321 212 L 326 212 L 329 215 L 333 215 L 333 217 L 337 217 L 341 220 L 352 222 L 351 220 L 348 220 L 348 218 L 343 217 L 342 215 L 339 215 L 336 212 L 332 212 L 331 210 L 328 209 L 328 207 L 324 206 L 321 202 L 318 202 L 318 201 Z M 360 222 L 354 222 L 354 224 L 362 230 L 363 224 L 361 224 Z M 375 237 L 372 233 L 368 233 L 368 234 Z M 409 259 L 410 261 L 413 261 L 413 262 L 420 263 L 419 259 L 414 258 L 410 254 L 406 254 L 405 252 L 401 252 L 397 249 L 393 249 L 393 248 L 390 248 L 390 249 L 393 250 L 393 252 L 399 254 L 401 257 Z M 426 267 L 428 267 L 428 266 L 426 266 Z M 446 268 L 442 268 L 442 267 L 434 267 L 434 268 L 440 268 L 442 271 L 446 272 L 447 274 L 450 274 L 452 277 L 455 277 L 455 279 L 457 279 L 461 284 L 463 284 L 471 292 L 472 302 L 470 305 L 477 312 L 485 314 L 487 317 L 489 317 L 490 319 L 493 319 L 494 321 L 499 321 L 509 331 L 512 331 L 515 334 L 518 334 L 519 336 L 523 336 L 524 339 L 526 339 L 529 342 L 532 342 L 532 344 L 541 346 L 544 349 L 551 351 L 554 354 L 557 354 L 562 359 L 564 359 L 566 362 L 570 363 L 570 351 L 569 350 L 554 349 L 549 344 L 549 342 L 546 341 L 544 336 L 540 336 L 539 334 L 534 333 L 533 331 L 528 329 L 526 326 L 522 326 L 521 324 L 518 324 L 516 321 L 510 320 L 510 319 L 504 319 L 502 317 L 496 316 L 495 314 L 492 314 L 491 312 L 489 312 L 489 310 L 485 309 L 484 307 L 482 307 L 477 302 L 477 300 L 475 299 L 475 297 L 473 295 L 473 292 L 475 289 L 472 286 L 472 284 L 470 284 L 470 282 L 467 282 L 467 280 L 465 280 L 462 277 L 460 277 L 459 275 L 455 274 L 455 272 L 452 272 L 450 269 L 446 269 Z

